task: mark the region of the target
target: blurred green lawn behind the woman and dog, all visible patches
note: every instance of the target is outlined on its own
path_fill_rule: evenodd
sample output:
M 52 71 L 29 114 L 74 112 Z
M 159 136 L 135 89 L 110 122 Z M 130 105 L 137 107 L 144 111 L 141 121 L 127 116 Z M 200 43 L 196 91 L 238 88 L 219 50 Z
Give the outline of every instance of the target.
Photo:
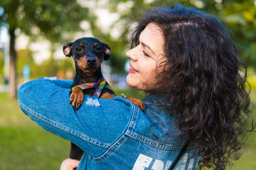
M 115 93 L 132 96 L 129 90 L 115 90 Z M 252 90 L 254 96 L 256 90 Z M 0 93 L 0 108 L 0 169 L 59 169 L 61 162 L 68 158 L 70 142 L 31 121 L 20 110 L 17 100 L 8 99 L 7 93 Z M 250 139 L 256 140 L 256 133 Z M 255 169 L 256 142 L 249 141 L 243 151 L 242 157 L 227 169 Z

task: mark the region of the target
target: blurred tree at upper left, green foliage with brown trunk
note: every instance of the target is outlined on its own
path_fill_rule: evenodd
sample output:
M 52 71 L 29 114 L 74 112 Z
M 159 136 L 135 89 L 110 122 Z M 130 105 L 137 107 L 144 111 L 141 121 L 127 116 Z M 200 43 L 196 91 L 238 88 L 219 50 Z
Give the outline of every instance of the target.
M 42 35 L 51 42 L 60 42 L 68 39 L 65 33 L 81 30 L 80 22 L 88 18 L 88 9 L 75 0 L 2 0 L 0 5 L 1 26 L 8 27 L 10 35 L 10 98 L 15 98 L 15 30 L 34 40 Z

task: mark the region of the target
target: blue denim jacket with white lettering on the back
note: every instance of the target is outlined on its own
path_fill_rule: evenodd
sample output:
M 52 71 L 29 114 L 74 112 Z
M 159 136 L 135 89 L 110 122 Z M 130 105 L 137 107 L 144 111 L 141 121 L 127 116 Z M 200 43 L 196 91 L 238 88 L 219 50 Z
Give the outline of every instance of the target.
M 69 103 L 72 80 L 46 77 L 23 84 L 21 110 L 45 130 L 67 139 L 85 153 L 79 169 L 168 169 L 186 138 L 175 117 L 163 111 L 154 96 L 143 99 L 142 112 L 125 98 L 84 96 L 78 110 Z M 200 156 L 190 143 L 174 169 L 195 169 Z

